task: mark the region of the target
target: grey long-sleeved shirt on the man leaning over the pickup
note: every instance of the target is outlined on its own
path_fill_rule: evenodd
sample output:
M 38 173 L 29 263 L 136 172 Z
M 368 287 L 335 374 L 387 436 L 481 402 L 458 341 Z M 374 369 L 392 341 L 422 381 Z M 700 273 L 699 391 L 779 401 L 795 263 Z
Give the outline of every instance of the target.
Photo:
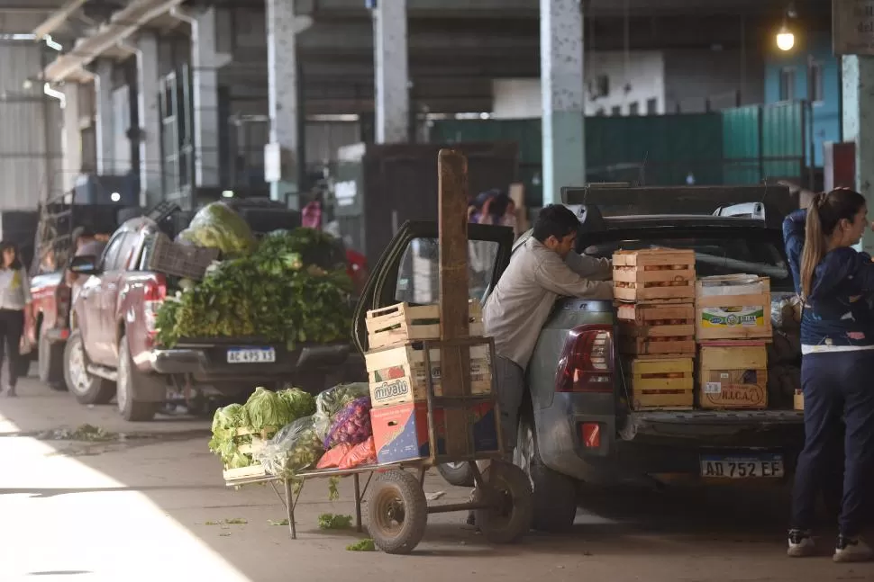
M 570 253 L 558 253 L 529 238 L 516 250 L 504 275 L 483 309 L 486 335 L 495 338 L 495 351 L 524 370 L 543 324 L 560 296 L 613 299 L 612 265 Z

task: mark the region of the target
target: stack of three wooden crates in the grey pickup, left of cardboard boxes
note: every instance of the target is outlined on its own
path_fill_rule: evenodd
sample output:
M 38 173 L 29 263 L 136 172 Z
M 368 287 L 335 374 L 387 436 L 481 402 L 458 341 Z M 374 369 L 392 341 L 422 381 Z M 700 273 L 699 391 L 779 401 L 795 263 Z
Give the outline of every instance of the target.
M 694 404 L 695 253 L 651 248 L 613 255 L 619 351 L 635 410 Z

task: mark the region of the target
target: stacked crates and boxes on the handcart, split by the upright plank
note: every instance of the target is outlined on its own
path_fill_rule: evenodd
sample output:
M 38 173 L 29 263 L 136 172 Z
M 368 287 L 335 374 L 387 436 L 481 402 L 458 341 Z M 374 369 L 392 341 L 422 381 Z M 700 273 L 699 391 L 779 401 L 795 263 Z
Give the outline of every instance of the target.
M 425 366 L 423 341 L 440 338 L 440 309 L 436 305 L 411 306 L 408 303 L 368 312 L 369 352 L 365 354 L 370 385 L 370 423 L 380 463 L 427 457 L 428 381 L 430 373 L 434 396 L 442 396 L 441 350 L 432 348 L 430 371 Z M 482 310 L 469 303 L 469 335 L 482 336 Z M 468 348 L 464 348 L 468 349 Z M 487 345 L 469 348 L 469 387 L 474 395 L 492 390 L 492 368 Z M 477 417 L 473 431 L 477 450 L 496 448 L 494 405 L 482 402 L 469 411 Z M 442 408 L 433 411 L 438 453 L 442 450 L 445 426 Z

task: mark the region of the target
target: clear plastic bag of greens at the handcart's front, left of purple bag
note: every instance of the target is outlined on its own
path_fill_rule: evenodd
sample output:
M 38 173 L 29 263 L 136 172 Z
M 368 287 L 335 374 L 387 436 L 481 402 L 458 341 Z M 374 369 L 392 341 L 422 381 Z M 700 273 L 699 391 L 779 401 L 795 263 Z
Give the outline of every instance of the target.
M 293 479 L 301 470 L 314 467 L 323 454 L 324 446 L 315 433 L 313 416 L 304 416 L 283 427 L 255 453 L 255 460 L 270 475 Z

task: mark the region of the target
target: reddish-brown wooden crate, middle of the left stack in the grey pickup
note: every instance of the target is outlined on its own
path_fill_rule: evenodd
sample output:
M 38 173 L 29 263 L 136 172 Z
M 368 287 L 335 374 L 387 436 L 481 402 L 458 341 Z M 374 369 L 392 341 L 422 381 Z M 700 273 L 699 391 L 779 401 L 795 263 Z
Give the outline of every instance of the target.
M 623 354 L 695 355 L 693 304 L 619 304 L 616 311 Z

